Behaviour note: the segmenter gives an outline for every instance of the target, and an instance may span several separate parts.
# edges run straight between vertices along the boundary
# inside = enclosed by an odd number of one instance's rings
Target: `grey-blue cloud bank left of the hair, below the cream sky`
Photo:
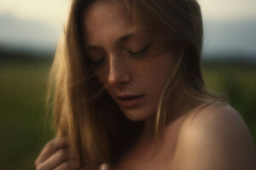
[[[20,20],[13,14],[0,15],[0,45],[11,48],[53,50],[61,31],[38,20]]]

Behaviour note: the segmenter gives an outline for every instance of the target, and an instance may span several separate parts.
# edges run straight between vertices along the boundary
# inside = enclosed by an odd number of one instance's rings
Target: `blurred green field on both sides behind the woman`
[[[45,118],[50,59],[0,60],[0,169],[34,169],[34,160],[54,136]],[[256,66],[203,64],[212,92],[228,94],[256,141]]]

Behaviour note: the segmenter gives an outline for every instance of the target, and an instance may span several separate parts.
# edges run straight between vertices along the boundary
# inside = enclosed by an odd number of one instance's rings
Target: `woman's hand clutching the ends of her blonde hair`
[[[35,161],[37,170],[77,170],[79,161],[74,159],[67,138],[50,140]]]

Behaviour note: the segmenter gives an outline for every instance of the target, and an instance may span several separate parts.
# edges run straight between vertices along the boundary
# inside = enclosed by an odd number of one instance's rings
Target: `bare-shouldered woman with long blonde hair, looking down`
[[[246,124],[204,87],[201,46],[195,0],[73,0],[37,169],[255,169]]]

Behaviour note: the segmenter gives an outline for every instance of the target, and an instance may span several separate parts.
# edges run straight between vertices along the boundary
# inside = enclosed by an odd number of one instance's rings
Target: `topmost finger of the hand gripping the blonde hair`
[[[38,166],[44,162],[49,156],[55,153],[56,150],[65,148],[68,146],[67,138],[61,137],[50,140],[45,146],[44,149],[38,156],[38,159],[35,161],[35,165]]]

